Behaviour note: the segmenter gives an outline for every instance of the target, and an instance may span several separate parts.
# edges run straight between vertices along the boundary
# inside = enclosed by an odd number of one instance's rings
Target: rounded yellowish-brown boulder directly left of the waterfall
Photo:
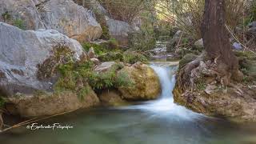
[[[158,75],[150,66],[135,63],[133,66],[125,66],[119,73],[128,74],[134,82],[134,86],[121,86],[118,90],[122,97],[128,100],[150,100],[158,98],[161,86]]]

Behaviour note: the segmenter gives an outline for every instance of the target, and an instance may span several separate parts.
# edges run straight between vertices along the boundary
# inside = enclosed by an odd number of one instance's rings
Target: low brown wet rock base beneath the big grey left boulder
[[[62,94],[10,98],[9,102],[14,106],[13,109],[7,109],[10,114],[19,114],[22,117],[30,118],[97,106],[99,99],[94,91],[90,90],[90,94],[86,94],[82,100],[73,92],[64,92]]]

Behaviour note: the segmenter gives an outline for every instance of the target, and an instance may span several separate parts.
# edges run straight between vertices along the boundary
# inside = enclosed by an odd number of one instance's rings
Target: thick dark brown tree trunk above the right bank
[[[231,49],[225,25],[225,0],[205,0],[201,32],[206,54],[216,63],[218,73],[227,75],[229,78],[238,78],[241,77],[241,72],[238,70],[238,58]]]

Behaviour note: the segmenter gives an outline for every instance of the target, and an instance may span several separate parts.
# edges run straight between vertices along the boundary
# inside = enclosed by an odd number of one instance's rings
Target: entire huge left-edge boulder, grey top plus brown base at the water
[[[0,31],[0,94],[13,107],[11,114],[58,114],[99,102],[93,91],[85,101],[72,92],[54,94],[58,65],[85,56],[79,42],[56,30],[20,30],[2,22]]]

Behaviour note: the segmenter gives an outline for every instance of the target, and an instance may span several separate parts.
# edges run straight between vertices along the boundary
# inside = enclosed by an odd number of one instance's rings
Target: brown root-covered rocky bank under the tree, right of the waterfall
[[[173,91],[174,102],[202,114],[256,122],[253,87],[230,82],[226,75],[214,71],[214,62],[205,60],[201,55],[179,69]],[[238,78],[242,77],[243,74],[238,73]]]

